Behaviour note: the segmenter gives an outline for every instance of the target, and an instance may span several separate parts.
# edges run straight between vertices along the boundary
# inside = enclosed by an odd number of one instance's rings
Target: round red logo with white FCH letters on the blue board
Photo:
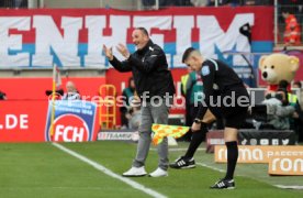
[[[89,129],[85,120],[75,114],[63,114],[54,121],[54,134],[48,140],[54,142],[83,142],[90,141]]]

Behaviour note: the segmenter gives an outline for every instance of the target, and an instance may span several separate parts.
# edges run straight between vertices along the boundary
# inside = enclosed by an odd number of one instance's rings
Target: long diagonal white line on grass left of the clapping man
[[[80,161],[82,161],[82,162],[85,162],[85,163],[93,166],[96,169],[104,173],[105,175],[109,175],[110,177],[119,179],[119,180],[121,180],[121,182],[123,182],[123,183],[132,186],[135,189],[138,189],[138,190],[141,190],[141,191],[143,191],[143,193],[145,193],[145,194],[147,194],[147,195],[149,195],[152,197],[167,198],[167,196],[165,196],[162,194],[159,194],[158,191],[155,191],[155,190],[153,190],[150,188],[147,188],[147,187],[145,187],[145,186],[143,186],[143,185],[141,185],[141,184],[138,184],[138,183],[130,179],[130,178],[122,177],[122,176],[113,173],[112,170],[108,169],[106,167],[102,166],[101,164],[98,164],[97,162],[93,162],[93,161],[87,158],[86,156],[80,155],[79,153],[76,153],[76,152],[74,152],[74,151],[71,151],[71,150],[69,150],[69,148],[67,148],[67,147],[65,147],[65,146],[63,146],[60,144],[57,144],[57,143],[52,143],[52,144],[54,146],[56,146],[57,148],[64,151],[65,153],[68,153],[69,155],[71,155],[71,156],[74,156],[74,157],[76,157],[76,158],[78,158],[78,160],[80,160]]]

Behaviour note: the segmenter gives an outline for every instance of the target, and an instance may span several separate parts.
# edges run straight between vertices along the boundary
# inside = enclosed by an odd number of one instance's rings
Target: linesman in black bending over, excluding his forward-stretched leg
[[[190,47],[183,54],[184,63],[199,72],[204,85],[204,101],[200,106],[192,130],[201,128],[207,109],[225,119],[224,140],[227,146],[227,172],[225,178],[211,188],[234,188],[234,170],[238,158],[237,132],[249,106],[249,96],[237,74],[223,62],[204,59],[199,51]]]

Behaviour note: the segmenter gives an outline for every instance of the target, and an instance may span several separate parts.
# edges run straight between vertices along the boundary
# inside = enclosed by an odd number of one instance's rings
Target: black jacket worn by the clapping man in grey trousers
[[[139,97],[149,91],[149,97],[164,97],[166,92],[175,94],[175,87],[164,51],[152,40],[146,46],[136,51],[126,61],[120,62],[115,56],[111,65],[121,73],[132,72],[136,91]]]

